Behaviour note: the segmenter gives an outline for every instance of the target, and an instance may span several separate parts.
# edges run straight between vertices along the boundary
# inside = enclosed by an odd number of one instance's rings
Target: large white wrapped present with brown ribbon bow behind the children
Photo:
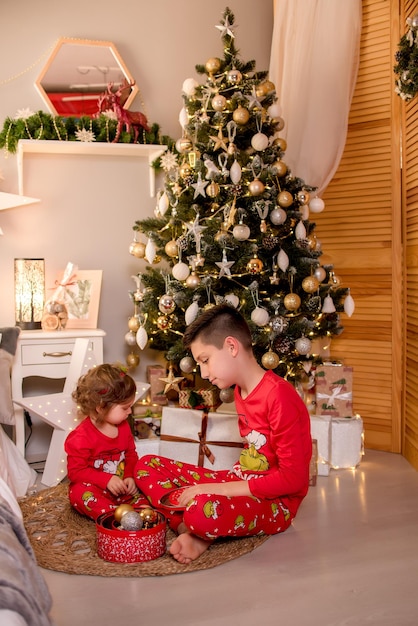
[[[210,469],[230,469],[244,440],[237,415],[164,407],[160,455]]]

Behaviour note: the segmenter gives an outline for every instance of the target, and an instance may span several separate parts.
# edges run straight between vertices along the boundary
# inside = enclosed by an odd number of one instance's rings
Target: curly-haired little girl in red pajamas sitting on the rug
[[[147,503],[133,478],[138,455],[127,417],[135,392],[135,381],[118,365],[103,364],[81,376],[73,393],[85,418],[65,441],[69,498],[94,520],[122,503]]]

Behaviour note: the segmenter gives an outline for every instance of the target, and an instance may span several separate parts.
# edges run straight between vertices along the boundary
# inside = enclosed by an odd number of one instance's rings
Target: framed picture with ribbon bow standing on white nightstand
[[[103,270],[77,270],[65,287],[66,328],[97,328]]]

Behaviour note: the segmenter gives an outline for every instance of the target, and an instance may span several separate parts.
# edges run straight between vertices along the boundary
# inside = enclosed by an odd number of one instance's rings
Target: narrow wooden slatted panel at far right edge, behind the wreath
[[[405,18],[418,14],[404,2]],[[403,216],[405,242],[405,372],[402,453],[418,469],[418,96],[403,106]]]

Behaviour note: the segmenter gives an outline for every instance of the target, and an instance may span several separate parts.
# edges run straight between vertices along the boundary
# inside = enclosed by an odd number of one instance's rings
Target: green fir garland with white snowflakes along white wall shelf
[[[44,111],[20,111],[15,118],[7,117],[0,132],[0,148],[15,153],[19,139],[48,139],[55,141],[94,141],[112,143],[116,136],[117,120],[105,113],[98,117],[61,117]],[[118,143],[133,143],[133,131],[122,130]],[[161,135],[160,126],[152,124],[143,130],[137,143],[160,144],[173,147],[174,140]],[[159,159],[153,167],[159,168]]]

